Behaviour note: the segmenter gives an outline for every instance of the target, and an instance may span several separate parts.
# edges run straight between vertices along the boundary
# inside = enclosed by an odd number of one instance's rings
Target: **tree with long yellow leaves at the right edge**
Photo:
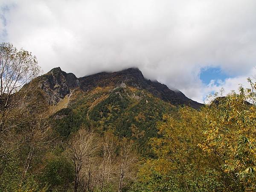
[[[235,183],[233,190],[256,190],[256,83],[239,94],[216,98],[202,110],[204,140],[199,146],[215,154],[219,166]]]

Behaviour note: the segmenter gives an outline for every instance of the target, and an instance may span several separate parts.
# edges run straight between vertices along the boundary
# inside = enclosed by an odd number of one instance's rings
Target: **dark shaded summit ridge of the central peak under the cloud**
[[[125,83],[138,89],[148,90],[154,96],[173,105],[191,105],[193,108],[200,108],[203,105],[187,98],[180,91],[170,90],[165,84],[145,79],[137,68],[129,68],[113,73],[97,73],[81,77],[79,81],[81,82],[81,89],[84,91],[92,90],[97,86],[106,87]]]

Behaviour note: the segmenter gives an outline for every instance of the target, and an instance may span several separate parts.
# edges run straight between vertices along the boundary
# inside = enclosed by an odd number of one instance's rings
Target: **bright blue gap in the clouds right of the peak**
[[[224,81],[229,78],[227,74],[225,74],[220,67],[207,67],[201,70],[200,79],[204,84],[209,84],[213,79],[217,84],[217,80]]]

